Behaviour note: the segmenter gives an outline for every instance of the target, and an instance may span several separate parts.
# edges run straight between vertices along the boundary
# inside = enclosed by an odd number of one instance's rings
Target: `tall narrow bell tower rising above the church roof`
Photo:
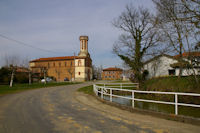
[[[79,40],[80,40],[80,52],[79,52],[78,56],[81,56],[81,57],[89,56],[89,53],[88,53],[88,36],[80,36]]]

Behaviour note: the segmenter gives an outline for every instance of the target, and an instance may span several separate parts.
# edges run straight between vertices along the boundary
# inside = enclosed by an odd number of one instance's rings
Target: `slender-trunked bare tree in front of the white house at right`
[[[178,4],[180,0],[153,0],[157,9],[159,26],[166,37],[166,43],[171,45],[174,51],[179,54],[179,77],[182,75],[183,52],[192,48],[193,27],[182,21],[180,14],[183,5]]]

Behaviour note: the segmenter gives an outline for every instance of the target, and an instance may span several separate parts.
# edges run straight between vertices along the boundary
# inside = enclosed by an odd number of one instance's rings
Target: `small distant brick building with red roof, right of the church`
[[[102,80],[121,80],[123,70],[120,68],[106,68],[102,72]]]

